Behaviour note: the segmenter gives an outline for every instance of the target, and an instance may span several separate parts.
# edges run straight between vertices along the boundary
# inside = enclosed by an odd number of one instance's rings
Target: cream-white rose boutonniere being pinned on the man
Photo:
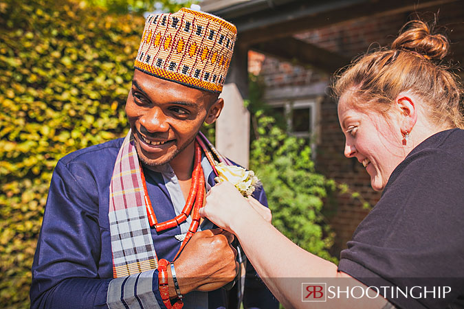
[[[254,190],[256,190],[259,180],[252,170],[245,170],[245,168],[236,165],[225,165],[223,162],[216,162],[215,165],[218,176],[214,181],[217,183],[229,181],[245,197],[252,195]]]

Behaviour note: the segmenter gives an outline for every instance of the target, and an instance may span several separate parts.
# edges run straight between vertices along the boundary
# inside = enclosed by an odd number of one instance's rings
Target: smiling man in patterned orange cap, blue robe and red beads
[[[32,308],[278,307],[233,236],[199,218],[214,160],[230,164],[199,129],[221,113],[235,39],[234,25],[204,12],[148,16],[131,130],[56,165]],[[266,203],[262,189],[254,197]]]

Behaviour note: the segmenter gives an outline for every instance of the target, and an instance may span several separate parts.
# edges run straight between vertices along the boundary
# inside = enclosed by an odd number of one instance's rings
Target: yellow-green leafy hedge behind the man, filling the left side
[[[126,131],[143,26],[82,1],[0,0],[0,308],[29,306],[56,161]]]

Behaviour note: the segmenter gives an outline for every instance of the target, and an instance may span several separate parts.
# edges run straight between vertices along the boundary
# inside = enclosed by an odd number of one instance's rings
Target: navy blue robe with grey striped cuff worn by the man
[[[78,150],[58,161],[32,265],[31,308],[166,308],[157,290],[156,270],[113,279],[109,183],[122,140]],[[214,185],[214,173],[205,158],[202,166],[208,189]],[[185,202],[172,169],[166,165],[157,171],[144,168],[144,172],[159,222],[176,216]],[[263,190],[254,197],[267,205]],[[152,229],[158,258],[173,260],[181,244],[174,236],[185,233],[190,220],[161,233]],[[208,228],[212,224],[205,220],[201,229]],[[234,308],[236,286],[229,291],[189,293],[184,308]],[[245,308],[278,308],[250,263],[243,304]]]

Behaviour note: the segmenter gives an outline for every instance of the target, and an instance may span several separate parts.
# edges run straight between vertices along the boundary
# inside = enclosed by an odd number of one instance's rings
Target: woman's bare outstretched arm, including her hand
[[[200,214],[236,235],[260,277],[285,308],[302,308],[309,304],[302,302],[305,297],[302,283],[311,278],[323,279],[328,286],[343,286],[344,290],[346,287],[351,290],[353,286],[366,290],[361,282],[338,272],[335,264],[301,249],[283,236],[258,213],[258,208],[255,210],[256,207],[259,206],[248,203],[232,184],[223,182],[208,193],[206,206]],[[375,297],[377,293],[369,291],[369,297],[373,298],[333,298],[322,308],[382,308],[386,299]]]

